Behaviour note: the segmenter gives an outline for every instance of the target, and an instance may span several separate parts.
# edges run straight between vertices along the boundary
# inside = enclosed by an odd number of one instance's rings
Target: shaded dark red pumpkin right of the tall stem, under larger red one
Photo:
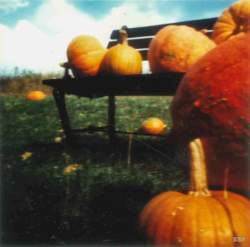
[[[224,170],[229,170],[229,189],[250,195],[249,150],[247,141],[241,145],[237,141],[220,137],[203,138],[210,184],[221,187]]]

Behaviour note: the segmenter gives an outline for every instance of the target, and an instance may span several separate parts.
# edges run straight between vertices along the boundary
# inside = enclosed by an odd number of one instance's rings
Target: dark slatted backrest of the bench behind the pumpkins
[[[175,22],[154,26],[144,26],[144,27],[125,27],[128,33],[129,45],[136,48],[142,55],[143,60],[147,60],[147,51],[149,43],[154,35],[163,27],[167,25],[188,25],[197,30],[207,29],[208,34],[212,32],[213,25],[217,18],[208,18],[201,20],[183,21]],[[123,27],[124,28],[124,27]],[[110,36],[110,42],[108,43],[108,48],[116,45],[119,40],[119,30],[113,30]]]

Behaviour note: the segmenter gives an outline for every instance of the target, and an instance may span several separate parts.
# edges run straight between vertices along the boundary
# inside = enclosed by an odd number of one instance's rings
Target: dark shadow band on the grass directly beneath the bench
[[[25,149],[40,153],[40,157],[60,156],[63,152],[69,153],[76,160],[88,157],[91,162],[127,163],[128,155],[132,156],[132,163],[143,164],[161,163],[162,166],[173,164],[187,168],[187,150],[168,144],[164,138],[155,136],[133,136],[129,154],[129,136],[118,135],[115,142],[110,142],[107,136],[84,134],[64,140],[62,143],[32,143]],[[79,157],[79,158],[78,158]],[[82,160],[84,162],[84,160]]]

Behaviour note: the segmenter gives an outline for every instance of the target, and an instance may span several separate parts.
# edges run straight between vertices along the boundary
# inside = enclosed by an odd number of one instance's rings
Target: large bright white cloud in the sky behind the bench
[[[1,0],[0,0],[1,1]],[[12,1],[25,3],[26,1]],[[145,1],[147,3],[148,1]],[[101,19],[80,11],[67,0],[45,0],[37,9],[32,22],[19,20],[14,28],[0,26],[1,67],[19,67],[39,72],[61,70],[66,61],[67,45],[75,36],[89,34],[106,46],[113,29],[154,25],[178,21],[181,9],[162,16],[154,5],[143,1],[124,1]],[[0,37],[1,38],[1,37]]]

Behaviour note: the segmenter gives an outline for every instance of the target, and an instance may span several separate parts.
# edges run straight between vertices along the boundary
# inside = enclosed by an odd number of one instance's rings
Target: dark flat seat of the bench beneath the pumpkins
[[[82,79],[48,79],[43,83],[68,94],[83,97],[108,95],[174,95],[183,73],[142,74],[127,76],[92,76]]]

